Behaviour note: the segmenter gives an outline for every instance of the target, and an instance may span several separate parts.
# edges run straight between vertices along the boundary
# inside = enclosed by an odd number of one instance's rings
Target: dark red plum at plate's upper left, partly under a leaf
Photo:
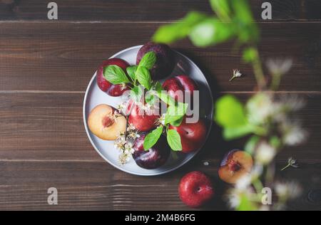
[[[103,76],[103,70],[107,66],[111,66],[111,65],[119,66],[125,71],[125,73],[126,73],[126,68],[129,66],[129,64],[121,58],[110,58],[106,61],[103,61],[103,63],[101,64],[101,66],[99,66],[97,70],[97,76],[96,76],[97,85],[99,88],[101,88],[103,92],[106,92],[108,95],[111,95],[114,97],[121,96],[126,90],[129,90],[129,88],[126,85],[121,85],[121,84],[113,85],[108,80],[106,80],[106,78]]]

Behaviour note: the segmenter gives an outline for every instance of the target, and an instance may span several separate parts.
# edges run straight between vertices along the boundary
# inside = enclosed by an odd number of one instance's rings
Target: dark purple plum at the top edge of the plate
[[[138,65],[141,58],[150,51],[153,51],[157,58],[155,65],[151,68],[152,79],[161,80],[170,75],[175,67],[175,56],[170,47],[165,44],[148,42],[143,45],[138,51],[136,64]]]

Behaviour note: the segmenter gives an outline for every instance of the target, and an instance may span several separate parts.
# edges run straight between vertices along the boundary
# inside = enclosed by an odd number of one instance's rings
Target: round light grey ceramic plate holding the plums
[[[136,63],[136,55],[139,48],[141,48],[141,46],[133,46],[131,48],[127,48],[111,56],[111,58],[123,58],[123,60],[133,65]],[[212,127],[213,117],[213,96],[210,91],[208,81],[206,80],[205,76],[203,75],[202,71],[200,71],[198,66],[196,66],[193,61],[190,61],[189,58],[181,53],[178,53],[177,51],[175,51],[175,58],[176,66],[170,76],[181,74],[189,75],[190,78],[193,78],[193,80],[195,80],[200,88],[200,117],[205,120],[206,125],[208,126],[208,138],[210,129]],[[103,93],[103,91],[98,88],[98,85],[96,84],[96,73],[93,75],[93,78],[91,78],[91,81],[88,84],[85,98],[83,100],[83,123],[85,125],[88,139],[91,141],[91,145],[93,145],[98,154],[101,155],[101,157],[103,157],[103,159],[105,159],[107,162],[112,164],[113,167],[121,169],[123,172],[128,172],[130,174],[136,174],[140,176],[155,176],[178,169],[179,167],[183,166],[183,164],[192,159],[198,151],[200,151],[199,149],[189,154],[172,154],[170,155],[168,162],[166,162],[162,167],[159,167],[158,169],[143,169],[141,167],[138,167],[133,159],[131,159],[131,161],[125,165],[120,165],[118,163],[118,150],[113,147],[113,141],[99,139],[98,137],[93,135],[90,130],[88,130],[87,125],[88,114],[96,105],[108,104],[116,107],[120,100],[121,97],[111,97],[106,93]]]

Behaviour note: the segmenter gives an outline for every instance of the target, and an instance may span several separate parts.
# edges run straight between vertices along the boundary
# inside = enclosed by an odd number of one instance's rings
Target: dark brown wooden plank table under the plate
[[[280,92],[307,100],[300,112],[310,138],[277,156],[300,168],[277,172],[304,187],[288,209],[321,209],[321,1],[272,3],[272,21],[260,19],[263,1],[252,0],[262,30],[263,59],[290,56],[291,73]],[[218,164],[243,140],[223,142],[217,129],[184,167],[158,177],[137,177],[115,169],[93,150],[83,127],[83,95],[97,66],[123,48],[146,43],[156,28],[190,9],[210,11],[208,1],[56,0],[58,21],[47,19],[44,0],[0,0],[0,209],[188,209],[178,199],[178,182],[199,169],[215,180],[217,197],[203,209],[226,209]],[[205,72],[213,93],[245,100],[255,80],[230,44],[200,49],[189,41],[173,48]],[[229,83],[233,68],[246,76]],[[205,166],[203,162],[209,162]],[[47,189],[58,189],[58,205],[47,204]],[[319,193],[318,199],[308,198]],[[317,194],[315,194],[317,195]]]

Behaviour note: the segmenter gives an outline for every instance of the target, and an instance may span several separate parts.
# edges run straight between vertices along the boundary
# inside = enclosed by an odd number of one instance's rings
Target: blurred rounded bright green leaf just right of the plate
[[[245,110],[233,95],[224,95],[215,103],[215,121],[222,127],[242,127],[248,125]]]

